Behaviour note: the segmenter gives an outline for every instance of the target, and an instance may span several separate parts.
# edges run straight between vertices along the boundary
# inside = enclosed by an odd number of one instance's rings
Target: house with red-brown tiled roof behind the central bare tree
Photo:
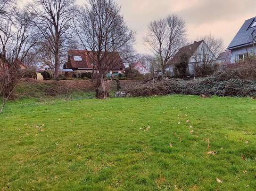
[[[98,65],[94,63],[94,53],[87,50],[70,50],[68,52],[68,61],[64,64],[63,69],[72,69],[84,73],[92,73],[93,70],[97,71]],[[118,75],[124,72],[124,63],[118,53],[108,53],[105,58],[108,66],[106,70],[110,74]]]

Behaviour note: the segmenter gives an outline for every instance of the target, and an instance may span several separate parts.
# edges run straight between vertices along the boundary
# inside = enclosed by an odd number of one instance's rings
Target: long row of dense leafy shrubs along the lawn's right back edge
[[[167,94],[256,97],[256,81],[240,79],[224,72],[190,81],[163,78],[154,83],[137,83],[126,87],[126,92],[133,97]]]

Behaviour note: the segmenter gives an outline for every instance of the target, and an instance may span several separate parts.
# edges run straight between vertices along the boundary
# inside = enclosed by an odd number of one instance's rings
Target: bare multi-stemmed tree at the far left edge
[[[14,92],[18,82],[26,74],[25,58],[36,44],[36,35],[31,15],[25,10],[0,15],[0,96],[4,98],[0,113],[6,101]]]

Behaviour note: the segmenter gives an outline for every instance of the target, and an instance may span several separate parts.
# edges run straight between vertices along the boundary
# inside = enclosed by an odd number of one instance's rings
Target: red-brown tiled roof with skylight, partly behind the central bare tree
[[[75,60],[74,56],[78,56],[79,59]],[[77,69],[77,68],[83,68],[83,69],[92,69],[93,68],[93,55],[92,51],[87,50],[70,50],[68,51],[68,62],[66,62],[66,67],[64,69]],[[124,69],[124,63],[122,59],[119,56],[119,53],[109,53],[107,54],[106,59],[107,63],[106,65],[109,66],[110,69]],[[97,64],[95,63],[95,66]]]

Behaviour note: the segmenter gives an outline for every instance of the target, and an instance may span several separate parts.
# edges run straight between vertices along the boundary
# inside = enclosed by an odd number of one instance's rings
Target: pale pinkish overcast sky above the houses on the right
[[[77,0],[83,3],[86,0]],[[182,17],[193,42],[211,33],[228,46],[245,20],[256,16],[256,0],[116,0],[128,26],[137,31],[135,48],[146,53],[143,37],[150,21],[169,14]]]

